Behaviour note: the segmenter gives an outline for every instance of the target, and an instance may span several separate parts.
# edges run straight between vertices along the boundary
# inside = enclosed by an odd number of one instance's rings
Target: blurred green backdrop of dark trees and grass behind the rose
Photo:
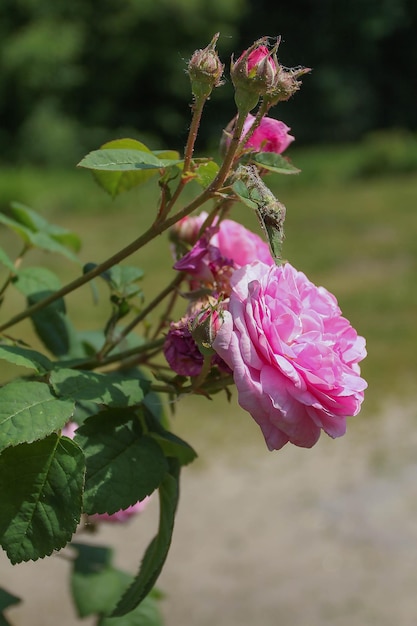
[[[115,201],[76,163],[118,137],[181,150],[190,119],[187,59],[220,31],[228,66],[262,35],[282,36],[284,65],[310,66],[302,89],[272,111],[292,128],[296,177],[270,177],[287,206],[285,256],[332,290],[368,341],[366,407],[413,394],[417,373],[417,48],[413,0],[3,0],[0,5],[0,209],[23,202],[73,228],[81,258],[99,262],[152,220],[154,181]],[[197,150],[214,151],[235,114],[226,69]],[[258,229],[247,209],[234,216]],[[13,235],[2,245],[17,254]],[[152,268],[151,297],[172,275],[166,238],[133,263]],[[31,253],[63,281],[67,261]],[[77,299],[78,298],[78,299]],[[88,288],[68,298],[75,322],[108,315]],[[23,303],[6,299],[6,317]],[[20,330],[22,329],[22,330]],[[16,331],[17,332],[17,331]],[[19,332],[32,337],[25,323]],[[209,407],[207,407],[209,410]]]

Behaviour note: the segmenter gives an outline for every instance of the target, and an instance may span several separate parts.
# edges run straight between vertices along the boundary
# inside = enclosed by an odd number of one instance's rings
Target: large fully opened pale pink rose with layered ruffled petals
[[[289,263],[261,262],[233,274],[213,348],[233,371],[239,404],[267,446],[313,446],[356,415],[366,382],[358,366],[365,340],[341,316],[335,297]]]

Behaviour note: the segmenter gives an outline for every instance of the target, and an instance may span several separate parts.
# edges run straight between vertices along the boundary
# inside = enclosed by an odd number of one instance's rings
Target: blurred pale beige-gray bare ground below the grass
[[[417,624],[416,417],[393,402],[312,450],[269,453],[260,438],[200,450],[158,585],[167,626]],[[117,564],[135,571],[157,508],[93,541],[114,542]],[[12,624],[77,624],[68,572],[59,556],[12,567],[2,554],[0,584],[25,598]]]

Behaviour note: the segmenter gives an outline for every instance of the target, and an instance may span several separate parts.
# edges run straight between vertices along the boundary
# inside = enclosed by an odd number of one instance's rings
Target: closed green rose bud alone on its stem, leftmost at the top
[[[191,90],[196,98],[208,98],[213,87],[221,85],[224,65],[215,49],[219,33],[216,33],[203,50],[196,50],[188,63]]]

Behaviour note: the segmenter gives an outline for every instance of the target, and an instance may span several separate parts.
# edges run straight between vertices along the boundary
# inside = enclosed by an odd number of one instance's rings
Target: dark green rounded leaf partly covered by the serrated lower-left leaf
[[[150,495],[167,461],[158,444],[143,435],[131,411],[102,411],[77,430],[75,441],[87,462],[85,512],[116,513]]]

